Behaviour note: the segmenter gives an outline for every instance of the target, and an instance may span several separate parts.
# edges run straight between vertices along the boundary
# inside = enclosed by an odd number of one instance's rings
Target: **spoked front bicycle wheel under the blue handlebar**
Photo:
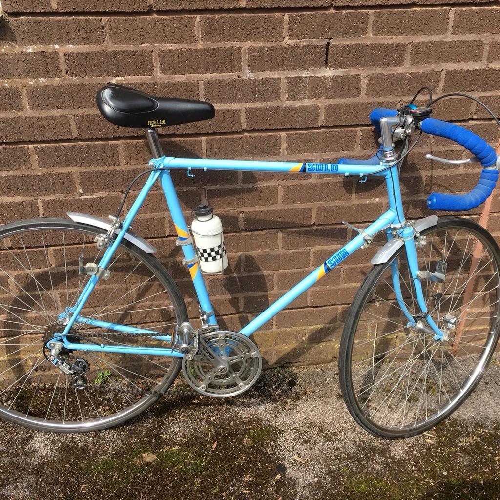
[[[500,251],[491,235],[460,217],[440,217],[421,234],[418,268],[433,273],[436,262],[447,264],[443,283],[421,284],[432,319],[449,339],[434,340],[428,329],[411,326],[405,312],[420,309],[402,246],[364,279],[340,343],[340,386],[351,415],[389,439],[424,432],[458,408],[484,373],[500,332]]]

